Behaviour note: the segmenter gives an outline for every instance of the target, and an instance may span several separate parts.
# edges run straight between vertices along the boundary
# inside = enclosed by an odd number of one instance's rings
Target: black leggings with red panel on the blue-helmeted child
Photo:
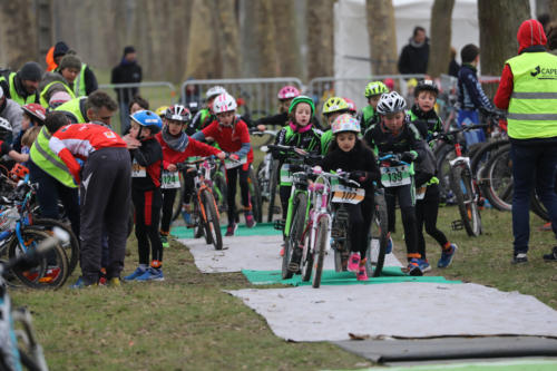
[[[131,192],[136,208],[136,237],[139,264],[149,264],[149,242],[153,260],[163,262],[163,243],[158,234],[163,196],[159,188]]]

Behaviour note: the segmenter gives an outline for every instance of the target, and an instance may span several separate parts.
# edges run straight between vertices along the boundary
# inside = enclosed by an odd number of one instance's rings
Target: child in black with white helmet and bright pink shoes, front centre
[[[359,281],[368,281],[365,271],[365,252],[368,235],[373,216],[373,182],[380,179],[379,167],[373,152],[358,138],[360,121],[350,114],[339,116],[332,124],[334,140],[323,159],[323,170],[342,169],[350,173],[350,178],[360,183],[365,191],[363,201],[359,204],[344,204],[349,212],[352,254],[348,269],[356,273]]]

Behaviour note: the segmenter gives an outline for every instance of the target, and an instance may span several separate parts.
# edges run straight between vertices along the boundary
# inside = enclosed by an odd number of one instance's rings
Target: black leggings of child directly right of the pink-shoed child
[[[387,209],[394,211],[397,198],[399,199],[400,214],[402,215],[402,226],[404,227],[404,242],[407,254],[410,257],[418,253],[418,228],[416,226],[413,185],[385,188],[384,198]],[[389,231],[394,231],[394,221],[389,217]]]

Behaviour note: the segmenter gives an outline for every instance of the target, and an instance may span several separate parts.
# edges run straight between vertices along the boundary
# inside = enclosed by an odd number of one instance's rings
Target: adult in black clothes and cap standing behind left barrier
[[[110,84],[137,84],[141,82],[141,66],[137,64],[136,49],[133,46],[124,48],[120,64],[113,68]],[[138,88],[115,89],[120,106],[120,129],[126,133],[129,126],[129,102],[138,94]]]

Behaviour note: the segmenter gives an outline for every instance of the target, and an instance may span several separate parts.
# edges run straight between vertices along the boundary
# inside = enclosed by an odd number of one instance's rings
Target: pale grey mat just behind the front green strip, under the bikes
[[[216,251],[204,238],[178,240],[194,255],[195,265],[203,273],[241,272],[242,270],[281,270],[278,255],[282,235],[236,236],[223,238],[223,250]],[[393,254],[385,256],[384,266],[402,266]],[[325,270],[334,270],[332,254],[325,260]]]

